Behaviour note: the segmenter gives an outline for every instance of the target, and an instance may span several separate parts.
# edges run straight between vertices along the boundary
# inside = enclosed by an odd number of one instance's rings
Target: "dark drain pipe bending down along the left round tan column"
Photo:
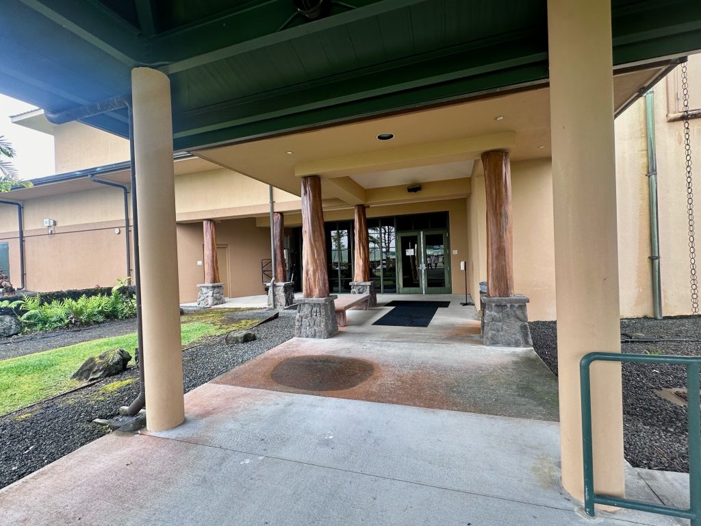
[[[116,109],[126,108],[129,116],[129,158],[131,168],[131,194],[132,194],[132,223],[134,233],[134,281],[136,288],[136,323],[138,337],[138,359],[139,359],[139,396],[131,403],[127,409],[128,416],[137,414],[146,405],[146,386],[144,381],[144,331],[141,306],[141,279],[139,272],[139,220],[137,214],[136,198],[136,169],[134,166],[134,112],[130,95],[119,95],[102,102],[88,104],[77,108],[67,109],[64,112],[49,112],[44,110],[46,119],[53,124],[65,124],[86,117],[99,115],[104,112],[112,112]]]

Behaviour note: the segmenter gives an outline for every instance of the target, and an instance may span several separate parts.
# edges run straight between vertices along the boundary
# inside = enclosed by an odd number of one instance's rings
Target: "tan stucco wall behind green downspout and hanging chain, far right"
[[[690,88],[701,87],[701,56],[692,55],[688,68]],[[680,108],[676,97],[679,88],[679,67],[654,88],[663,316],[691,313],[683,124],[667,121],[667,113]],[[692,109],[699,107],[701,97],[691,102]],[[692,119],[690,130],[692,159],[697,168],[701,119]],[[652,316],[644,99],[616,119],[615,133],[620,312],[622,317]],[[696,224],[700,220],[697,206]]]

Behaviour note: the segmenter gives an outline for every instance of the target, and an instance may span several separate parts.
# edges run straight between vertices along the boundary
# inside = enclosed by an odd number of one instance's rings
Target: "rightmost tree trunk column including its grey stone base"
[[[485,151],[486,296],[480,295],[482,341],[487,346],[530,347],[524,295],[514,295],[511,167],[508,151]]]

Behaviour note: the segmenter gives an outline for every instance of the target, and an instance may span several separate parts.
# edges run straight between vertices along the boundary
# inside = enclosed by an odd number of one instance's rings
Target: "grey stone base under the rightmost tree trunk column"
[[[526,303],[529,299],[482,296],[482,342],[490,347],[532,347]]]

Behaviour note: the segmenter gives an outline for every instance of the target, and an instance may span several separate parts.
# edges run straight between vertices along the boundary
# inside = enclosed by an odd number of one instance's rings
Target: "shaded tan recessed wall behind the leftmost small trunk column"
[[[217,245],[229,247],[229,292],[231,297],[264,294],[261,259],[270,259],[270,230],[257,227],[253,218],[217,222]],[[204,278],[201,223],[177,225],[180,301],[194,302],[197,285]],[[225,269],[219,268],[222,279]]]

